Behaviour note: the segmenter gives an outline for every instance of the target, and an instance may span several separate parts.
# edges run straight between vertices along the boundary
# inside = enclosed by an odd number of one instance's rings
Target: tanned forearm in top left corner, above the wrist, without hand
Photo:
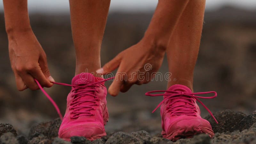
[[[8,36],[14,32],[31,30],[27,0],[3,0],[5,29]]]

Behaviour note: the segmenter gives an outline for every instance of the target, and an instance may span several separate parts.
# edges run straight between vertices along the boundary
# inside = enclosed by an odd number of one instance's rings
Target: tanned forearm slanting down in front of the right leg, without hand
[[[165,50],[175,25],[187,4],[188,0],[159,0],[144,39]]]

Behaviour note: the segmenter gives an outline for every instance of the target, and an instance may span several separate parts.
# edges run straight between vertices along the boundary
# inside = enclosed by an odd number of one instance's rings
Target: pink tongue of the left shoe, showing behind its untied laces
[[[82,74],[76,75],[72,79],[72,85],[85,86],[85,85],[92,84],[92,83],[95,83],[95,76],[93,76],[90,73],[82,73]],[[86,90],[86,89],[93,89],[93,87],[80,88],[80,89],[78,89],[78,91],[81,92],[81,90]],[[88,92],[87,91],[86,93],[94,95],[95,92],[93,92],[93,91]],[[93,97],[91,95],[83,94],[83,96],[80,97],[77,101],[92,100],[94,98],[95,97]],[[93,104],[93,102],[88,101],[88,102],[81,103],[79,105],[85,106],[85,105],[91,105],[91,104]],[[90,109],[90,108],[82,108],[79,111],[83,111],[83,110],[85,111],[85,110],[88,110],[88,109]]]

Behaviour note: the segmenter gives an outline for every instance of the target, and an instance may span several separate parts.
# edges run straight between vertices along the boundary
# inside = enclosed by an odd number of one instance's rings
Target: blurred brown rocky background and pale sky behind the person
[[[102,43],[102,65],[116,54],[136,44],[143,36],[156,7],[156,0],[112,0]],[[31,26],[43,46],[55,81],[71,83],[75,73],[68,0],[28,0]],[[8,57],[3,2],[0,1],[0,123],[10,123],[18,134],[28,134],[36,123],[58,115],[41,91],[16,90]],[[166,58],[161,69],[168,72]],[[159,110],[151,111],[162,100],[145,92],[165,90],[165,81],[134,85],[117,97],[108,95],[107,133],[146,130],[161,132]],[[107,87],[110,82],[107,82]],[[46,91],[59,105],[62,114],[70,87],[54,85]],[[216,91],[218,97],[202,100],[212,111],[256,108],[256,1],[207,0],[204,28],[195,68],[194,92]],[[207,111],[201,108],[202,116]]]

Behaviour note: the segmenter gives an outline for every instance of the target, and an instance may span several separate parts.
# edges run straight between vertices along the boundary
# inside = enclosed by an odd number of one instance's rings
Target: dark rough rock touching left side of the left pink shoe
[[[60,118],[57,118],[54,121],[50,122],[39,123],[30,129],[28,138],[31,140],[32,138],[37,137],[40,134],[43,134],[49,139],[58,137],[60,124]]]

